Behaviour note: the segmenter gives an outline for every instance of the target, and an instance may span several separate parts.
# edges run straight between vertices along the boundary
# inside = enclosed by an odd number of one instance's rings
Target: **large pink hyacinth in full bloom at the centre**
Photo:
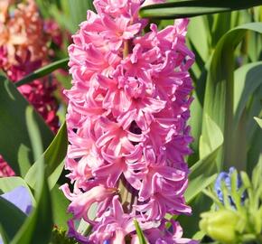
[[[65,167],[73,192],[61,189],[71,202],[70,236],[82,243],[138,243],[134,219],[150,243],[194,243],[181,238],[178,225],[164,230],[167,213],[191,213],[183,196],[192,141],[188,20],[162,31],[151,24],[143,35],[143,2],[95,0],[98,14],[88,11],[69,47]],[[89,237],[77,231],[80,220],[92,225]]]

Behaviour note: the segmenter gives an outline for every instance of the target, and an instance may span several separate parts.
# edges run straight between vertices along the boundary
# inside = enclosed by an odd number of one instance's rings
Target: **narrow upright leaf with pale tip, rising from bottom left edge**
[[[34,145],[35,155],[39,155],[43,150],[42,138],[40,129],[33,119],[32,109],[27,109],[26,111],[26,122],[31,127],[29,136]],[[38,179],[36,187],[37,191],[35,191],[36,207],[23,223],[21,229],[16,233],[11,244],[47,244],[51,239],[51,230],[53,226],[51,194],[45,176],[43,160],[38,166],[38,171],[36,172],[35,177]]]

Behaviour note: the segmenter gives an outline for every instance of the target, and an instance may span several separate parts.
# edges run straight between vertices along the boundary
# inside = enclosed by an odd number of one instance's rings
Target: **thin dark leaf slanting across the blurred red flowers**
[[[63,59],[61,61],[54,61],[54,62],[40,68],[39,70],[33,71],[33,73],[24,77],[22,80],[15,82],[15,86],[20,87],[24,84],[30,83],[33,80],[42,78],[42,77],[50,74],[54,70],[59,70],[59,69],[62,69],[62,68],[66,69],[68,67],[68,62],[69,62],[69,58]]]

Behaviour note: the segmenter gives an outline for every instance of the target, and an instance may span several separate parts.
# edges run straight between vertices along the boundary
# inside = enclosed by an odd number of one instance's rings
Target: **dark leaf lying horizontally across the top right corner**
[[[140,9],[143,18],[178,19],[203,14],[216,14],[262,5],[262,0],[179,0]]]

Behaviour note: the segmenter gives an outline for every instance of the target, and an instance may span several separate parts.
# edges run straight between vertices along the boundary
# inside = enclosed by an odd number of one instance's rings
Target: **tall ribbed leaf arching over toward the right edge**
[[[218,166],[232,162],[233,104],[234,104],[234,50],[249,31],[262,33],[262,23],[247,23],[223,35],[212,55],[204,100],[204,113],[220,127],[224,134],[224,151],[220,151]],[[203,121],[203,129],[206,127]],[[203,133],[206,140],[206,133]]]

